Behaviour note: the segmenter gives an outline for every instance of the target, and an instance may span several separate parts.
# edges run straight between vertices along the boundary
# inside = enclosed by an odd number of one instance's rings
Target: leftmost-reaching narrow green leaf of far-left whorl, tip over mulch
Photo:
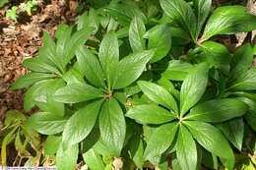
[[[14,85],[12,85],[12,89],[19,89],[24,87],[29,87],[30,85],[37,83],[39,81],[52,79],[56,77],[53,74],[45,74],[45,73],[31,73],[21,77],[16,81]]]

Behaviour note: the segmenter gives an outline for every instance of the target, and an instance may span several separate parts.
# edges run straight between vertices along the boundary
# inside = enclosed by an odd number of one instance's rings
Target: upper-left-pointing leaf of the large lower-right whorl
[[[146,81],[140,81],[138,85],[151,100],[178,113],[175,99],[164,87]]]

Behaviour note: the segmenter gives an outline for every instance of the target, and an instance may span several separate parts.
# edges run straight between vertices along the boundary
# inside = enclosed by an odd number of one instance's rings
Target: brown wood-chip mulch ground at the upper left
[[[23,90],[10,90],[9,87],[28,71],[22,66],[27,57],[36,55],[42,45],[43,31],[54,34],[59,24],[74,23],[77,1],[52,0],[38,3],[36,11],[29,16],[19,12],[18,22],[5,18],[12,7],[23,1],[12,1],[0,10],[0,118],[10,109],[23,110]]]

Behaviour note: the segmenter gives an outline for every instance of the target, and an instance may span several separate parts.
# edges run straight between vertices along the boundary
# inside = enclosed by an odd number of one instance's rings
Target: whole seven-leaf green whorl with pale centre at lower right
[[[176,98],[179,104],[164,87],[149,82],[138,83],[155,103],[137,105],[126,116],[144,125],[160,125],[152,130],[144,152],[145,160],[158,165],[161,153],[174,145],[171,151],[176,150],[181,169],[196,169],[200,163],[197,160],[200,146],[195,139],[206,150],[221,157],[228,169],[232,169],[232,150],[221,131],[209,123],[240,117],[246,113],[247,106],[236,98],[211,99],[195,105],[204,94],[207,83],[208,67],[202,63],[193,68],[183,81],[179,98]],[[178,165],[173,166],[177,168]]]

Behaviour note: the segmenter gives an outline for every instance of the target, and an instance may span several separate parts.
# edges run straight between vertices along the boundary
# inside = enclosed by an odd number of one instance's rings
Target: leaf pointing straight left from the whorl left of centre
[[[104,93],[92,85],[75,83],[58,89],[53,96],[59,102],[77,103],[103,97]]]

